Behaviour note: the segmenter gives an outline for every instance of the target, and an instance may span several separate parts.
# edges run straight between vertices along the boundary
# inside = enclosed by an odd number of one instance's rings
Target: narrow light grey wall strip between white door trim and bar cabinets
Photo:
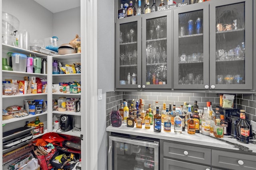
[[[107,9],[107,10],[106,10]],[[98,170],[107,169],[106,92],[114,90],[114,0],[98,1]]]

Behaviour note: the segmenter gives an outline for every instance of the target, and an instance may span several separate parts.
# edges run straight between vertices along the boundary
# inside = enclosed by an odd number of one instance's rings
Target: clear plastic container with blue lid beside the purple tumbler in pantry
[[[12,70],[26,72],[27,56],[20,53],[12,53]]]

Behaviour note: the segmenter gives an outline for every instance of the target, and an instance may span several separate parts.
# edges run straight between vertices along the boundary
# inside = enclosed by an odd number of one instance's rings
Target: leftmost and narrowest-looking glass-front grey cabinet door
[[[116,88],[141,88],[141,17],[116,21]]]

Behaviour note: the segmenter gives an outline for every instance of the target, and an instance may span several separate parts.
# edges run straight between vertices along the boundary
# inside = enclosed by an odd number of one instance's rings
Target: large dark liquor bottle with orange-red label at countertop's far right
[[[240,120],[236,123],[236,140],[249,143],[250,125],[246,121],[245,111],[240,110]]]

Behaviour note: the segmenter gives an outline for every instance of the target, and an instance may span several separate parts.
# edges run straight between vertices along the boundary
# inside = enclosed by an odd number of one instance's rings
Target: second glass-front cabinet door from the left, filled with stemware
[[[142,89],[171,89],[171,11],[142,16]]]

